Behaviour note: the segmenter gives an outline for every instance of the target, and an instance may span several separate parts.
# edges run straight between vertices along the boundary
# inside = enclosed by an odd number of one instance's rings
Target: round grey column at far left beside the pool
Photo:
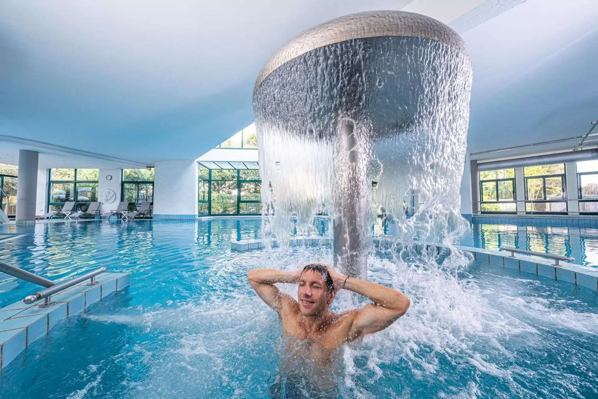
[[[17,180],[17,224],[35,223],[39,153],[19,150]]]

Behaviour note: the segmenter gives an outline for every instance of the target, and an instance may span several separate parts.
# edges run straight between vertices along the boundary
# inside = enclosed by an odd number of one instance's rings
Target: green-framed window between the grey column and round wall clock
[[[50,169],[48,208],[60,210],[65,202],[74,201],[77,211],[86,211],[97,201],[98,169]]]

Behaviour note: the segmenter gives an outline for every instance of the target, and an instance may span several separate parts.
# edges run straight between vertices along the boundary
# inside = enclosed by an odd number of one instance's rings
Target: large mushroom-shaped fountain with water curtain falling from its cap
[[[350,14],[286,42],[253,95],[269,232],[288,237],[292,217],[300,232],[324,212],[335,267],[358,278],[381,206],[403,242],[454,240],[471,80],[460,36],[420,14]]]

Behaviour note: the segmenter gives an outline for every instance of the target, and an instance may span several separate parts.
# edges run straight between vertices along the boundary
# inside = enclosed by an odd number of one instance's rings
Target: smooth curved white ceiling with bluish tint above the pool
[[[582,135],[598,118],[596,0],[5,0],[0,136],[93,153],[67,150],[72,162],[196,159],[252,122],[255,77],[285,41],[401,8],[469,45],[471,152]]]

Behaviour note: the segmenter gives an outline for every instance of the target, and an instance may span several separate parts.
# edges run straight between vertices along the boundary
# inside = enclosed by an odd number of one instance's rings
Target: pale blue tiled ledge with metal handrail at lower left
[[[97,285],[87,282],[75,285],[51,297],[56,302],[45,309],[38,309],[39,302],[23,301],[0,309],[0,370],[6,367],[29,343],[44,336],[66,316],[77,315],[92,303],[130,285],[129,273],[102,273],[96,277]]]

